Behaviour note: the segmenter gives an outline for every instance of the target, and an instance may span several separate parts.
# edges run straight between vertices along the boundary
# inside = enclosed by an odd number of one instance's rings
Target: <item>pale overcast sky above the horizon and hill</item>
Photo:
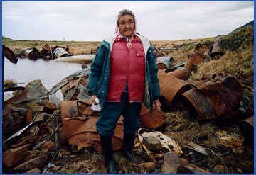
[[[254,20],[254,1],[3,1],[2,35],[14,40],[101,41],[117,14],[134,12],[149,40],[227,35]]]

